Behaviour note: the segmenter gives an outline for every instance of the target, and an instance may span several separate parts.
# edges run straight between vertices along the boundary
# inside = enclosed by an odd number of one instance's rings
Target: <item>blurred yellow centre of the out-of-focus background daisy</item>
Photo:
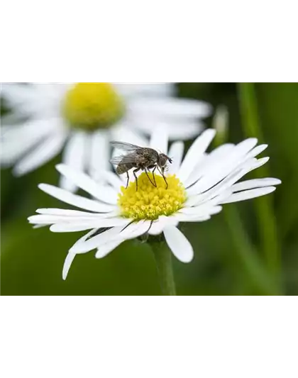
[[[112,84],[81,82],[67,92],[62,113],[72,126],[96,130],[121,119],[125,106]]]

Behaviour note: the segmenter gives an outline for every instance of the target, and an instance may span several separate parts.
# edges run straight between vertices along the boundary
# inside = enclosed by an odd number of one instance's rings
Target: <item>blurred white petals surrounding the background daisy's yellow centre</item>
[[[19,175],[26,174],[48,162],[65,145],[62,162],[87,171],[97,180],[98,171],[112,169],[109,164],[111,152],[109,140],[120,140],[145,147],[148,145],[148,139],[145,138],[143,131],[145,130],[148,135],[152,128],[162,129],[165,126],[169,129],[170,140],[192,138],[202,128],[199,119],[209,116],[211,111],[211,106],[202,101],[175,98],[175,79],[112,79],[109,82],[115,86],[126,103],[126,116],[109,130],[89,133],[89,143],[83,143],[84,133],[79,134],[75,131],[75,135],[72,136],[72,129],[61,112],[67,91],[80,81],[82,80],[31,79],[26,85],[1,84],[4,97],[10,106],[15,108],[14,121],[16,118],[20,121],[22,116],[31,116],[35,120],[23,123],[23,126],[29,127],[31,123],[33,126],[39,126],[35,131],[32,126],[31,133],[27,133],[29,129],[25,128],[13,127],[11,131],[6,128],[7,141],[13,148],[9,150],[5,146],[2,147],[1,140],[1,166],[14,165],[23,154],[30,152],[24,161],[18,162],[19,165],[13,171]],[[6,121],[9,121],[9,118],[6,118]],[[49,131],[46,131],[47,128],[43,129],[42,126],[45,124],[50,126]],[[164,130],[160,130],[160,133],[163,132]],[[42,136],[47,135],[46,133],[52,135],[50,141],[42,142],[45,145],[35,147]],[[62,143],[62,133],[63,135],[67,133],[65,143]],[[53,136],[54,134],[56,136]],[[24,138],[21,138],[21,135],[24,135]],[[21,140],[20,148],[16,147],[18,140]],[[57,145],[54,146],[55,140]],[[161,150],[164,149],[164,145]],[[53,146],[53,152],[50,152],[50,146]],[[34,151],[35,148],[38,148],[37,152]],[[36,156],[40,155],[41,149],[43,155],[38,161]],[[65,177],[60,179],[60,187],[72,192],[77,189],[75,184],[68,182]]]

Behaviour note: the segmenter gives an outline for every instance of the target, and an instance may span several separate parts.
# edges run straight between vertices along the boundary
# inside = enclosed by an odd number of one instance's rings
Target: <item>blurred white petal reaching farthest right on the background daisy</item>
[[[171,118],[204,118],[210,116],[212,111],[211,106],[205,102],[174,97],[135,99],[128,105],[130,110],[136,114],[146,114],[149,111],[151,116],[170,116]]]

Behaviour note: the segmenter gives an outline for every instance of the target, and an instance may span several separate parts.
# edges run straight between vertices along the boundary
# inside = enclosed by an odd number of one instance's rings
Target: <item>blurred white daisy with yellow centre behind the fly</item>
[[[193,138],[211,106],[176,98],[175,84],[170,79],[1,83],[1,96],[13,110],[1,120],[1,166],[13,166],[13,174],[21,176],[63,150],[64,164],[95,177],[97,169],[110,167],[111,139],[145,145],[153,126],[169,128],[171,140]],[[65,177],[60,187],[76,189]]]

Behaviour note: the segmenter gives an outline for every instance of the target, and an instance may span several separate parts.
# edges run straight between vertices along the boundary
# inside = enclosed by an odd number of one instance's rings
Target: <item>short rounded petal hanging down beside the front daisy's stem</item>
[[[173,255],[181,262],[191,262],[194,258],[194,250],[183,233],[174,226],[167,226],[163,233]]]

